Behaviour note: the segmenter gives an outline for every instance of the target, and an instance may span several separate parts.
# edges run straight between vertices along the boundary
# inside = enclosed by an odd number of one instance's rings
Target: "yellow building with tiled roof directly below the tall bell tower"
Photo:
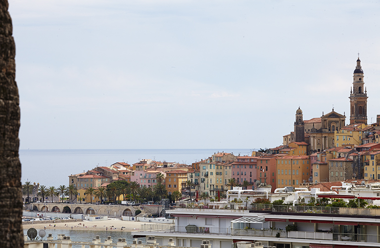
[[[364,123],[357,123],[346,125],[340,128],[339,131],[335,130],[335,146],[360,146],[364,137],[362,130],[366,127],[367,125]]]

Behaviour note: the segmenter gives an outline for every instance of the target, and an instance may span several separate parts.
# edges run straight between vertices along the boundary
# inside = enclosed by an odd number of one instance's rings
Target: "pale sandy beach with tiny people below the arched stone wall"
[[[36,229],[75,229],[75,230],[96,230],[96,231],[123,231],[132,232],[140,230],[141,224],[146,222],[140,221],[123,221],[117,219],[101,220],[101,221],[88,221],[81,220],[77,222],[61,222],[61,223],[22,223],[24,229],[34,227]],[[55,226],[54,226],[55,225]]]

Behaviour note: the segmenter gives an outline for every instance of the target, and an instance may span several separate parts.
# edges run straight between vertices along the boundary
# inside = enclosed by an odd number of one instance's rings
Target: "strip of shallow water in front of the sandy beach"
[[[36,229],[38,232],[40,229]],[[24,235],[28,229],[24,229]],[[101,242],[103,243],[107,236],[111,236],[112,242],[116,243],[119,238],[125,238],[128,244],[132,244],[134,238],[130,232],[106,232],[106,231],[84,231],[84,230],[58,230],[58,229],[47,229],[46,236],[51,233],[54,240],[57,239],[58,234],[64,234],[65,236],[70,236],[73,242],[89,242],[93,241],[96,235],[100,236]],[[44,240],[47,238],[44,237]],[[145,238],[138,238],[145,243]],[[73,246],[73,248],[81,248],[81,246]]]

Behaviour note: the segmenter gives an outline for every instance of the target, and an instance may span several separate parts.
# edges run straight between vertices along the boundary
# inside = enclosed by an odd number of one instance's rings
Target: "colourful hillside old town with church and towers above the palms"
[[[74,186],[78,193],[70,202],[100,202],[95,194],[92,199],[86,197],[89,189],[91,192],[106,188],[115,181],[133,183],[140,188],[162,184],[169,196],[176,192],[176,198],[181,199],[196,195],[226,196],[233,186],[245,189],[268,186],[273,193],[284,187],[323,189],[336,186],[335,182],[377,182],[380,180],[380,115],[376,123],[368,124],[367,98],[358,58],[349,94],[349,120],[345,112],[341,114],[334,109],[328,113],[322,110],[322,116],[303,120],[298,107],[294,130],[281,138],[282,144],[253,151],[251,156],[218,151],[191,165],[142,159],[132,165],[116,162],[97,166],[68,176],[69,186]],[[118,200],[125,200],[123,194]]]

